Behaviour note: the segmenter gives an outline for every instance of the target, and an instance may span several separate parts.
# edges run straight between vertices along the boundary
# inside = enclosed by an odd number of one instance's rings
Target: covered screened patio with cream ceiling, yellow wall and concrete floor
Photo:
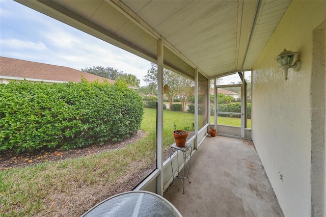
[[[222,216],[326,216],[326,1],[16,1],[157,64],[157,168],[136,190],[172,203],[191,197],[174,204],[185,216],[219,215],[217,207]],[[292,60],[300,69],[278,66],[284,48],[297,52]],[[185,195],[177,180],[170,186],[177,174],[163,157],[164,68],[195,83],[195,135],[188,141],[194,182],[185,182]],[[245,71],[252,71],[252,129]],[[219,125],[216,109],[210,123],[211,81],[217,90],[216,80],[234,73],[241,127]],[[208,138],[209,128],[237,139]]]

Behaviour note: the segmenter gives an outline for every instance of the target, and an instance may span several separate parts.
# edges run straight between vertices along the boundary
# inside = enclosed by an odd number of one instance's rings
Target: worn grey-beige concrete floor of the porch
[[[192,156],[189,183],[164,193],[183,216],[284,216],[251,141],[207,137]]]

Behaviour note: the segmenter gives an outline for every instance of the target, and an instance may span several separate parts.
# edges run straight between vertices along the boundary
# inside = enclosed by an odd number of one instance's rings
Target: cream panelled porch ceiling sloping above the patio
[[[21,4],[194,77],[251,69],[288,1],[21,1]]]

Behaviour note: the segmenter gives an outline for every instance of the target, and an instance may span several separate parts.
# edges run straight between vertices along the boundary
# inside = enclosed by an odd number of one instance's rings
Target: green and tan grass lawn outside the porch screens
[[[129,191],[133,175],[156,158],[156,110],[144,111],[146,137],[124,149],[0,171],[0,216],[80,216],[113,194]],[[178,129],[192,127],[194,117],[164,111],[165,148],[174,142],[174,123]]]

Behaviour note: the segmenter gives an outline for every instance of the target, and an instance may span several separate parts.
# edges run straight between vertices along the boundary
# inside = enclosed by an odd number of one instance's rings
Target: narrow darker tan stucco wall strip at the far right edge
[[[325,129],[326,122],[326,19],[313,31],[312,70],[310,82],[311,110],[311,210],[313,216],[326,216]]]

